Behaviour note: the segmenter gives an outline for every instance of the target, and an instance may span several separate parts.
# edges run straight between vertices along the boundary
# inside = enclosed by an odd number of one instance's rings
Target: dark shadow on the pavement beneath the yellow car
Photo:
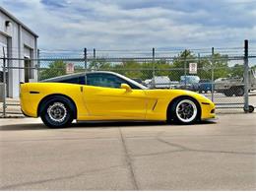
[[[66,128],[58,128],[58,129],[72,129],[72,128],[114,128],[114,127],[150,127],[150,126],[198,126],[198,125],[206,125],[206,124],[215,124],[215,121],[207,120],[197,122],[192,125],[181,125],[181,124],[167,124],[165,122],[159,121],[121,121],[121,122],[109,122],[109,121],[80,121],[77,123],[72,123],[71,126]],[[23,123],[23,124],[10,124],[10,125],[1,125],[0,131],[19,131],[19,130],[51,130],[51,128],[46,127],[43,123]]]

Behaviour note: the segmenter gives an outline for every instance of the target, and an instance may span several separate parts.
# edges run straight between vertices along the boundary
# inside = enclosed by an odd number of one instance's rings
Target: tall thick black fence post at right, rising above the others
[[[248,40],[244,40],[244,111],[249,112]]]

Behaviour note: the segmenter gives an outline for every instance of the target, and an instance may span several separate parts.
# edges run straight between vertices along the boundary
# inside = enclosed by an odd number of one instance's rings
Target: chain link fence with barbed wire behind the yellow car
[[[256,57],[248,55],[246,43],[245,49],[240,49],[238,54],[214,48],[210,53],[195,53],[188,49],[176,53],[156,51],[153,48],[152,51],[140,52],[139,55],[124,53],[120,56],[118,50],[112,50],[113,55],[106,54],[105,50],[98,50],[96,55],[96,49],[91,52],[85,49],[84,55],[76,57],[61,55],[53,58],[41,55],[39,59],[29,60],[1,58],[1,112],[6,115],[8,107],[19,103],[10,103],[11,99],[8,98],[15,92],[14,86],[19,93],[19,82],[37,82],[88,71],[116,72],[149,89],[197,92],[212,99],[217,105],[217,112],[248,112],[252,110],[250,105],[256,104]],[[15,77],[16,75],[19,77]],[[12,78],[18,79],[16,84]]]

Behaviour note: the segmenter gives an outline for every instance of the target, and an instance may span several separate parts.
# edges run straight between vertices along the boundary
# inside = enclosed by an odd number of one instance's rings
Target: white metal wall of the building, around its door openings
[[[9,27],[5,26],[5,22],[10,21]],[[8,39],[8,57],[24,59],[25,47],[29,47],[32,50],[32,58],[36,58],[36,36],[31,32],[28,32],[21,24],[17,23],[12,18],[6,16],[0,10],[0,35],[1,37],[7,37]],[[2,50],[0,50],[2,51]],[[32,62],[32,66],[36,63]],[[24,67],[24,61],[13,60],[9,61],[8,66],[10,67]],[[32,70],[32,78],[36,78],[36,70]],[[9,69],[8,72],[8,96],[19,97],[20,93],[20,82],[25,80],[24,69]]]

